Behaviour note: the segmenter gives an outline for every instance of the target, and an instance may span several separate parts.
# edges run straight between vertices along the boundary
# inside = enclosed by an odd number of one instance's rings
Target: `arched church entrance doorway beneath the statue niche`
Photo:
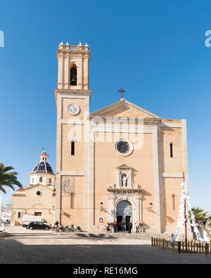
[[[129,201],[120,201],[117,204],[117,223],[121,223],[122,220],[126,225],[126,230],[129,230],[129,221],[132,220],[132,205]],[[118,230],[121,230],[120,225],[118,225]]]

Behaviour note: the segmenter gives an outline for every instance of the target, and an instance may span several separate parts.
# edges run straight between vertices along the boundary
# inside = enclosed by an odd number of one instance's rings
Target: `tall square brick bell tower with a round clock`
[[[86,44],[58,46],[56,88],[56,220],[65,225],[86,223],[89,180],[89,61]],[[75,133],[77,136],[75,138]],[[86,229],[86,227],[84,227]]]

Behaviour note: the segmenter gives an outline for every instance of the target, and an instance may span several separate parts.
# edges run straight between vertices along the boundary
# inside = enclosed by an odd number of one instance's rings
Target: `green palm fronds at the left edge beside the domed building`
[[[4,186],[11,187],[13,190],[15,190],[13,185],[17,185],[20,188],[23,187],[17,180],[18,173],[9,172],[13,169],[14,168],[12,166],[6,167],[4,164],[0,163],[0,191],[4,192],[4,194],[6,193]]]

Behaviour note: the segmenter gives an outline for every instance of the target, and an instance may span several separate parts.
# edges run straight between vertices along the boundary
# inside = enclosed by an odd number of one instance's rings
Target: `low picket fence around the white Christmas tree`
[[[175,253],[196,253],[202,255],[211,255],[210,243],[196,243],[188,241],[187,243],[181,241],[169,241],[165,239],[155,239],[152,237],[152,246],[159,247]]]

